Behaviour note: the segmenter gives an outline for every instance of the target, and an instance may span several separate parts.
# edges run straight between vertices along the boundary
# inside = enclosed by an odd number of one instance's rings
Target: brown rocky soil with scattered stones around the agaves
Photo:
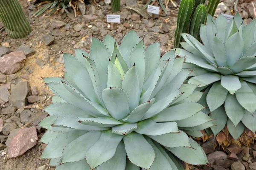
[[[19,0],[32,26],[31,34],[12,40],[0,23],[0,170],[54,170],[49,160],[39,159],[46,147],[40,142],[45,130],[36,126],[48,116],[43,108],[51,104],[52,93],[41,77],[64,75],[64,53],[75,53],[75,48],[88,51],[92,35],[102,40],[110,34],[118,43],[134,28],[145,45],[160,40],[161,54],[173,48],[177,10],[169,4],[168,14],[142,11],[142,1],[121,0],[122,9],[113,13],[111,6],[96,0],[97,5],[78,3],[81,12],[59,10],[48,16],[32,17],[37,11],[35,0]],[[219,3],[215,16],[234,12],[235,0]],[[178,6],[179,1],[177,0]],[[154,4],[157,5],[157,4]],[[239,1],[239,13],[245,23],[256,17],[256,0]],[[106,14],[120,14],[121,23],[107,23]],[[253,141],[253,140],[252,140]],[[215,139],[201,143],[210,166],[192,167],[193,170],[256,170],[256,145],[231,145],[221,151]],[[254,163],[255,162],[255,163]]]

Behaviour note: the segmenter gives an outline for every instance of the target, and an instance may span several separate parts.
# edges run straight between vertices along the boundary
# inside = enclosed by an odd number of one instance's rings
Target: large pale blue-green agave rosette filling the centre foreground
[[[90,55],[63,57],[65,78],[44,78],[55,96],[39,124],[48,129],[41,158],[56,170],[180,170],[175,156],[208,162],[185,132],[202,136],[212,119],[195,103],[197,85],[183,84],[191,71],[175,51],[160,57],[159,42],[145,50],[131,30],[120,47],[109,35],[93,37]]]

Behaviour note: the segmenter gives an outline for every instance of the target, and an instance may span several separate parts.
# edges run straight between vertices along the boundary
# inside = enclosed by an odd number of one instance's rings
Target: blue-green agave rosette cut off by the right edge
[[[256,20],[244,26],[237,13],[230,22],[220,15],[216,20],[208,15],[207,24],[201,26],[200,37],[204,45],[189,34],[182,34],[186,42],[177,49],[186,56],[183,68],[193,70],[188,83],[205,89],[199,101],[204,110],[217,119],[211,127],[216,135],[227,123],[235,138],[244,131],[244,125],[256,131]],[[189,51],[189,52],[188,52]]]

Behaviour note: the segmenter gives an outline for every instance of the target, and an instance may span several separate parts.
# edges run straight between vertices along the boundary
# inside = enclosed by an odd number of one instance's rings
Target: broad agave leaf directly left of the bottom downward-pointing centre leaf
[[[90,168],[93,169],[111,159],[122,138],[121,135],[111,133],[111,130],[102,132],[99,140],[86,153]]]

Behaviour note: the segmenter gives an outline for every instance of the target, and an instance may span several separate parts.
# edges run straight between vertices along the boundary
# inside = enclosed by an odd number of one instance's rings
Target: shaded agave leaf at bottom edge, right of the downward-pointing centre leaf
[[[169,156],[163,150],[163,148],[162,150],[159,150],[158,147],[161,147],[159,144],[157,147],[149,137],[145,136],[145,139],[151,145],[151,147],[153,147],[154,153],[155,153],[155,159],[150,169],[151,170],[172,170],[172,166],[170,164],[170,161],[172,161],[172,159],[169,158]]]

